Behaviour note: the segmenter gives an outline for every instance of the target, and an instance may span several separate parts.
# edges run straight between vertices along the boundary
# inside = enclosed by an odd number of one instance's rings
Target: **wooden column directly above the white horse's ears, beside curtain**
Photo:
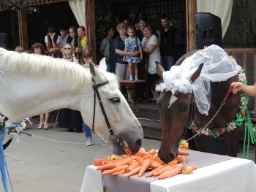
[[[94,64],[97,64],[96,31],[95,31],[95,1],[85,0],[86,37],[89,40],[89,50],[92,52]]]

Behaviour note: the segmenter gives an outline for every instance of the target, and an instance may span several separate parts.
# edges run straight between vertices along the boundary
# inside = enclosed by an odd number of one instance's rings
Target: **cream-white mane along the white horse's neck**
[[[89,69],[84,69],[80,64],[66,61],[61,58],[52,58],[46,55],[29,53],[16,53],[0,48],[0,70],[2,72],[20,72],[23,74],[33,73],[44,77],[67,77],[74,85],[73,88],[81,88],[89,85],[91,74]],[[110,85],[118,86],[117,79],[110,73],[104,73]],[[111,80],[110,80],[111,79]]]

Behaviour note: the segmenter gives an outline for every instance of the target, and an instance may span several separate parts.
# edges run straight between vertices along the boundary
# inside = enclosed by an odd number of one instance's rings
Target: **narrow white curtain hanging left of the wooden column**
[[[75,19],[78,21],[78,25],[86,26],[84,0],[69,0],[69,6],[75,15]]]

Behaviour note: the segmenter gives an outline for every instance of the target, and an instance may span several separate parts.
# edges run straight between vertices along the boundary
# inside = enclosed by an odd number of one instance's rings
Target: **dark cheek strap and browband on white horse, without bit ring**
[[[102,99],[101,99],[101,97],[99,95],[99,91],[98,91],[99,87],[101,87],[102,85],[108,84],[108,80],[104,81],[104,82],[99,82],[98,84],[96,84],[95,80],[92,78],[92,82],[94,82],[94,84],[92,85],[92,88],[94,88],[94,93],[97,94],[97,98],[99,100],[99,106],[100,106],[100,109],[102,110],[102,114],[103,114],[103,116],[105,118],[105,121],[106,121],[106,124],[108,126],[108,131],[110,132],[111,135],[113,135],[114,132],[113,132],[111,126],[110,126],[107,114],[105,112],[105,109],[104,109],[104,106],[103,106],[103,103],[102,103]],[[95,99],[94,99],[94,101],[95,101]],[[95,110],[95,103],[94,103],[94,110]]]

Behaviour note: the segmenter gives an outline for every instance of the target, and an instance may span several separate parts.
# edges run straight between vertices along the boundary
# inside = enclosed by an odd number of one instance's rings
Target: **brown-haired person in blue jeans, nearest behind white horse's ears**
[[[82,53],[82,58],[83,58],[83,67],[88,69],[89,68],[89,61],[92,60],[92,53],[91,50],[83,50]],[[83,130],[84,134],[86,135],[86,145],[91,146],[92,138],[91,138],[91,130],[89,126],[86,125],[86,123],[83,121]]]

